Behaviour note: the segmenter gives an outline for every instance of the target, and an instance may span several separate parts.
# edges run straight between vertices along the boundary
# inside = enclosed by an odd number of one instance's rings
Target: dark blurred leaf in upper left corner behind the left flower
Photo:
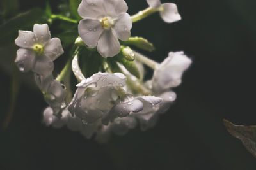
[[[19,30],[31,29],[36,22],[40,22],[44,17],[44,11],[40,8],[25,13],[20,13],[8,22],[0,26],[0,46],[14,42]]]

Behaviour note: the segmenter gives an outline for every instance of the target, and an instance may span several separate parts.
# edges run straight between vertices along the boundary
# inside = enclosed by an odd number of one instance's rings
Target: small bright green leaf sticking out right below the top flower
[[[150,43],[147,39],[138,36],[130,37],[128,41],[123,41],[122,44],[136,46],[137,48],[146,50],[148,52],[155,50],[155,47],[152,43]]]

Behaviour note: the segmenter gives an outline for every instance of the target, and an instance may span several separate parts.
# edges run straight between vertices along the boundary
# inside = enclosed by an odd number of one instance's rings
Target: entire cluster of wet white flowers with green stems
[[[180,85],[191,59],[184,52],[170,52],[159,64],[132,50],[130,45],[154,50],[147,39],[131,37],[132,23],[156,12],[164,22],[181,19],[173,3],[147,3],[150,7],[130,16],[124,0],[82,0],[77,10],[83,18],[79,36],[56,79],[52,71],[53,61],[63,53],[60,39],[51,39],[47,24],[35,24],[34,32],[19,31],[15,62],[20,71],[35,74],[36,85],[49,104],[43,113],[46,125],[66,125],[86,138],[95,136],[105,142],[111,134],[124,135],[137,125],[142,131],[153,127],[170,108],[176,99],[172,88]],[[154,70],[147,81],[144,66]],[[76,89],[71,86],[72,78],[67,78],[71,72],[79,82]],[[68,97],[73,91],[74,96]]]

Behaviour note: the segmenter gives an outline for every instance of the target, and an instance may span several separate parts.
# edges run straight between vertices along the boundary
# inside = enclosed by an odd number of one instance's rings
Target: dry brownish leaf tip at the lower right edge
[[[235,125],[228,120],[223,120],[228,132],[240,139],[246,149],[256,158],[256,126]]]

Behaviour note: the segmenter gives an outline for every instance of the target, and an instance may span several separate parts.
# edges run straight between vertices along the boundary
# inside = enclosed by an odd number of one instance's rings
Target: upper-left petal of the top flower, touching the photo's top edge
[[[103,1],[106,0],[83,0],[77,11],[84,19],[98,19],[106,15]]]

